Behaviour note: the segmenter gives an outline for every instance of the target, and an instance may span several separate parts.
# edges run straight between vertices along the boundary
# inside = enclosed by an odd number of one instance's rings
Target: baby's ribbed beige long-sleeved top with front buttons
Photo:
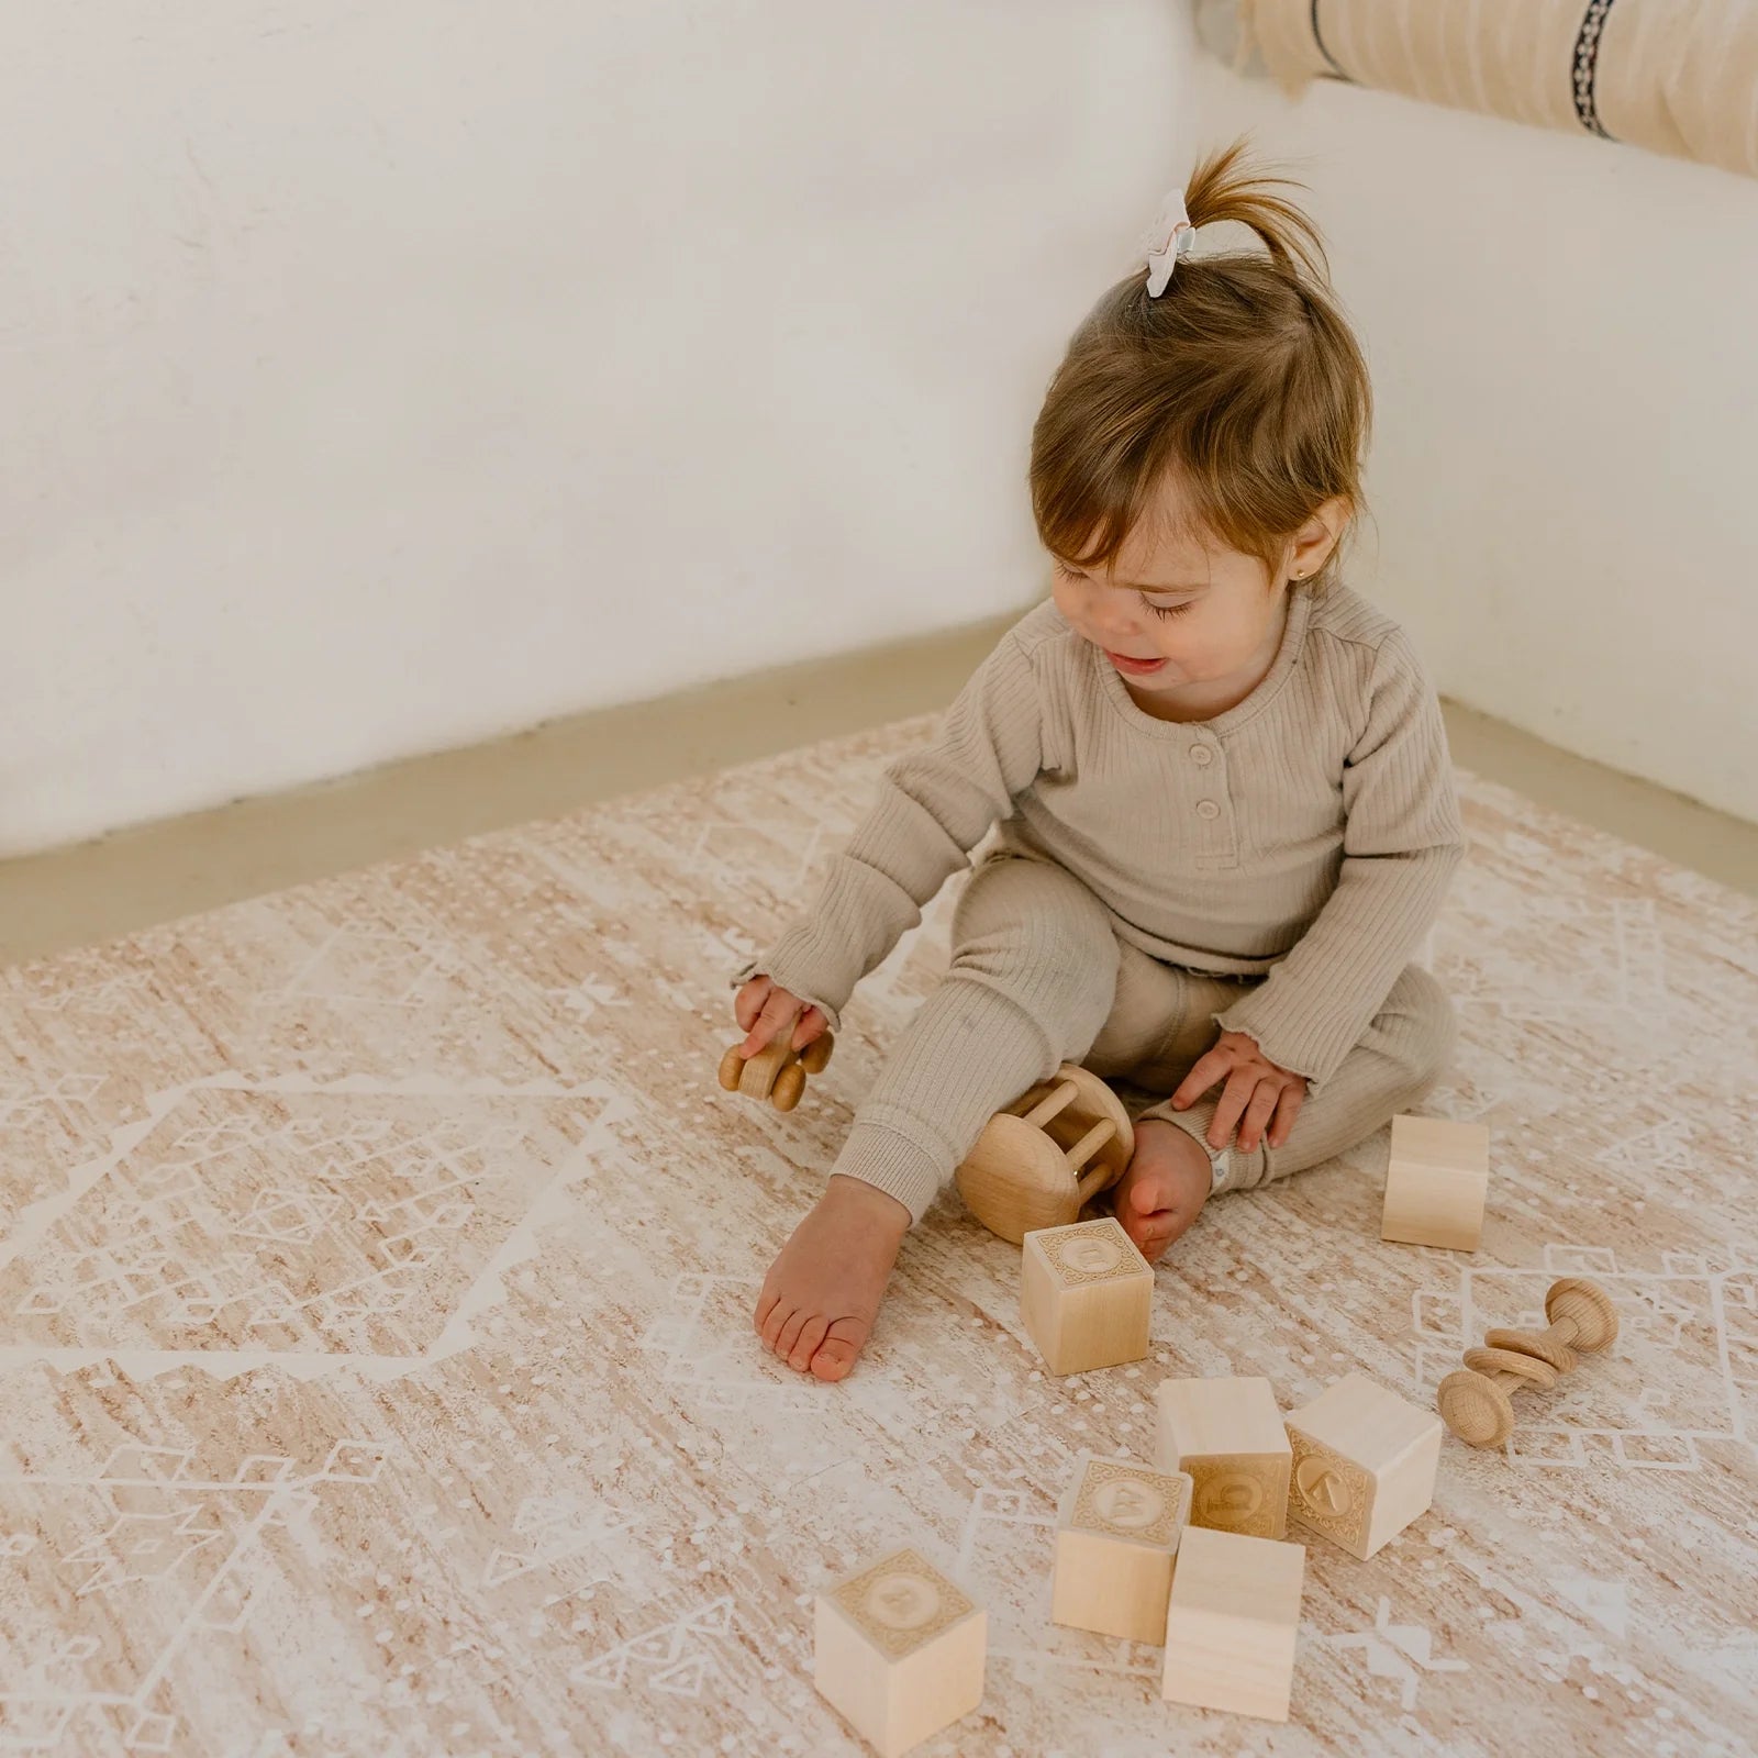
[[[893,763],[765,972],[825,1011],[921,919],[984,833],[1048,856],[1151,956],[1266,976],[1218,1016],[1324,1081],[1366,1032],[1464,853],[1440,703],[1408,636],[1347,587],[1296,587],[1257,689],[1211,721],[1139,708],[1053,603],[999,642],[935,738]]]

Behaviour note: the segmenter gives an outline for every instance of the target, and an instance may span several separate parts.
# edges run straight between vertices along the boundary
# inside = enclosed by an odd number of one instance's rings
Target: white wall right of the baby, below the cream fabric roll
[[[1313,190],[1378,397],[1355,584],[1442,689],[1758,817],[1758,183],[1199,63]]]

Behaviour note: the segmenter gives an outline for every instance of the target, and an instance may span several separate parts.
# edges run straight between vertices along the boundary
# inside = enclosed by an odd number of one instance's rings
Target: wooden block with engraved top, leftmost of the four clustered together
[[[1083,1452],[1057,1508],[1050,1616],[1104,1637],[1162,1642],[1173,1556],[1188,1515],[1183,1471]]]

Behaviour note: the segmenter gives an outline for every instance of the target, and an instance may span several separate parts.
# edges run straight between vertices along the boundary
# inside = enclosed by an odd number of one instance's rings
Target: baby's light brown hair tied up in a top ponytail
[[[1206,533],[1275,568],[1333,498],[1362,505],[1373,392],[1331,299],[1318,229],[1246,160],[1211,153],[1185,190],[1192,225],[1238,220],[1269,255],[1178,260],[1159,299],[1118,281],[1076,331],[1032,429],[1032,512],[1044,547],[1115,561],[1176,478]],[[1327,580],[1336,552],[1317,580]]]

